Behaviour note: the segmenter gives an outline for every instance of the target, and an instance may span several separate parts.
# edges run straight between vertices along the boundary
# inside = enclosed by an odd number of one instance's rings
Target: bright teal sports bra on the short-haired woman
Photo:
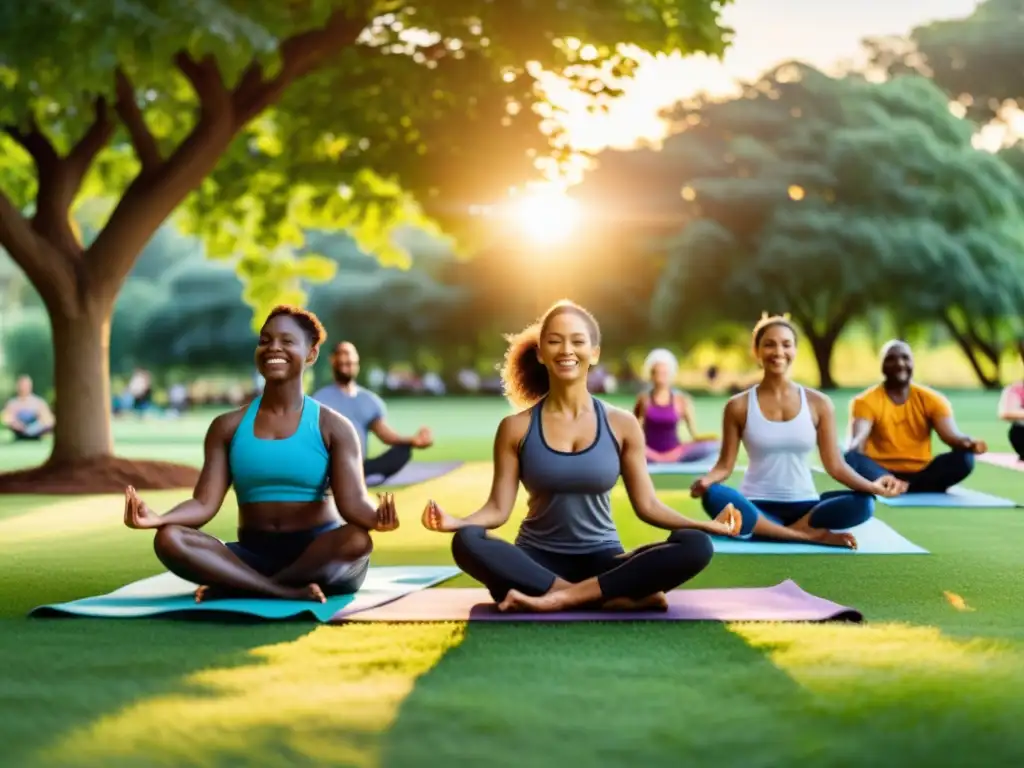
[[[322,501],[331,484],[331,456],[321,434],[319,403],[303,397],[295,433],[266,440],[254,432],[262,399],[249,403],[227,455],[239,504]]]

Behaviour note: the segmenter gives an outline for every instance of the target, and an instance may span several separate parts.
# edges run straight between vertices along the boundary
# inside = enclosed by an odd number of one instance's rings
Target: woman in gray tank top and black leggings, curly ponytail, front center
[[[433,501],[424,510],[427,528],[455,534],[456,563],[502,610],[665,609],[664,593],[711,562],[709,534],[738,531],[738,513],[691,520],[657,500],[636,417],[587,389],[600,343],[597,322],[571,302],[511,338],[502,378],[509,400],[525,410],[498,427],[490,498],[465,518]],[[672,531],[667,541],[624,551],[610,500],[620,476],[637,516]],[[510,544],[486,531],[509,519],[520,481],[529,511]]]

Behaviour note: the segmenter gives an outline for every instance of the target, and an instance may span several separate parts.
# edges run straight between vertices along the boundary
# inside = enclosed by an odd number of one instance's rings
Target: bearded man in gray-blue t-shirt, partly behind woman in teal
[[[332,411],[337,411],[355,427],[362,446],[362,471],[368,484],[379,485],[404,467],[413,457],[414,447],[433,444],[430,430],[421,427],[412,437],[403,437],[388,426],[384,400],[369,389],[355,383],[359,375],[359,353],[355,345],[340,341],[331,354],[334,384],[313,393],[313,399]],[[388,450],[371,459],[367,455],[367,441],[373,432]]]

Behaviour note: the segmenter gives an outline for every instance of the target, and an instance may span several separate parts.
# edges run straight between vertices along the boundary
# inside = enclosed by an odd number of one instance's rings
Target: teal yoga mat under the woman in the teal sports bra
[[[399,565],[371,567],[362,588],[354,595],[329,597],[326,603],[303,600],[227,599],[197,603],[196,585],[173,573],[160,573],[134,582],[98,597],[86,597],[67,603],[41,605],[32,616],[92,616],[95,618],[139,618],[182,613],[236,614],[253,618],[315,618],[330,621],[340,611],[352,613],[382,605],[446,582],[459,574],[455,566]]]

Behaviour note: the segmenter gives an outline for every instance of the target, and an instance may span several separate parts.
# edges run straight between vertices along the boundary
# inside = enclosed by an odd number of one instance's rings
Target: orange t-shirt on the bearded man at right
[[[919,472],[932,461],[932,428],[953,413],[949,400],[929,387],[910,385],[906,402],[897,406],[879,384],[850,403],[854,419],[872,422],[864,456],[890,472]]]

